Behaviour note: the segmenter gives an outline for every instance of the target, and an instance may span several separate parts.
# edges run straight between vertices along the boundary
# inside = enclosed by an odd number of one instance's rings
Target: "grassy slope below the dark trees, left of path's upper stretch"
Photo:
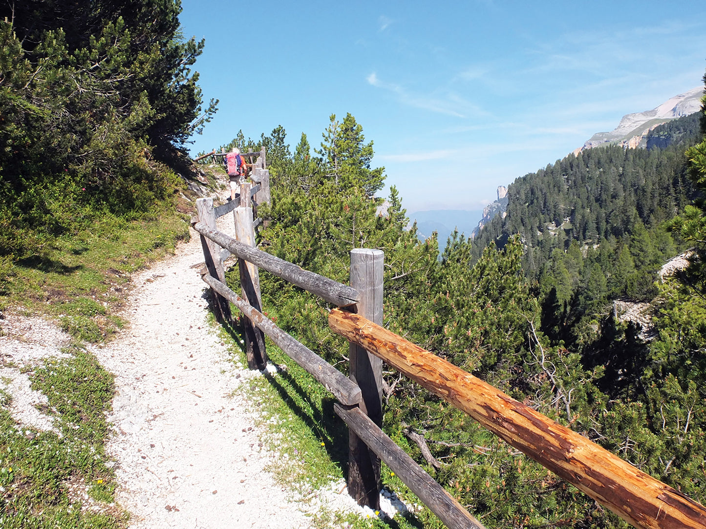
[[[174,253],[189,238],[186,215],[126,221],[104,217],[90,229],[54,239],[20,260],[0,261],[0,310],[22,305],[56,317],[82,341],[104,341],[123,326],[119,308],[129,274]]]

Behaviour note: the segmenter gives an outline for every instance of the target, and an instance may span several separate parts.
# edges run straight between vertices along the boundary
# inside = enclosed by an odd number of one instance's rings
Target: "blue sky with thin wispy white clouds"
[[[182,0],[219,111],[191,152],[330,114],[373,140],[408,212],[481,209],[621,116],[702,85],[706,2]],[[385,195],[384,190],[381,195]]]

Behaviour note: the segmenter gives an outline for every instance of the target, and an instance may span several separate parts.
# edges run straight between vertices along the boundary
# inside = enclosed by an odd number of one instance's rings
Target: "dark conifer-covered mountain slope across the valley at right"
[[[697,141],[698,116],[653,130],[651,148],[593,148],[517,178],[505,216],[474,238],[474,256],[520,233],[527,276],[544,293],[555,286],[560,303],[577,295],[589,274],[599,288],[591,303],[650,298],[655,272],[678,248],[664,222],[694,196],[684,150]],[[585,274],[566,262],[571,256],[589,263]]]

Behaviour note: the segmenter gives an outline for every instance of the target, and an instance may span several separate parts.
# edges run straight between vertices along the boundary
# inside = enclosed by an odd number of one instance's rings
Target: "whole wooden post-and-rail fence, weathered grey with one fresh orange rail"
[[[381,378],[385,361],[635,527],[706,528],[706,509],[698,502],[381,327],[383,253],[380,250],[352,250],[351,285],[347,286],[255,248],[253,209],[247,204],[251,195],[261,192],[265,179],[269,193],[264,152],[259,163],[261,187],[251,188],[249,183],[241,186],[237,205],[229,203],[214,208],[213,199],[198,200],[198,219],[192,219],[192,224],[201,234],[206,262],[203,280],[213,288],[219,320],[230,320],[229,302],[245,315],[244,321],[249,325],[245,329],[249,367],[265,367],[264,335],[267,335],[335,396],[338,401],[335,413],[349,427],[348,490],[359,504],[379,509],[380,461],[384,461],[449,528],[483,527],[381,430]],[[235,238],[215,227],[215,219],[231,211],[236,221]],[[225,284],[222,260],[227,254],[224,252],[239,260],[241,296]],[[337,307],[330,311],[328,322],[333,332],[349,341],[349,377],[263,315],[258,267]]]

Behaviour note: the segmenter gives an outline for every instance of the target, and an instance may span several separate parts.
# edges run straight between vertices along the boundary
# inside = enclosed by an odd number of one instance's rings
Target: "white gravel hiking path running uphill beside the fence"
[[[116,501],[131,528],[308,528],[264,470],[274,454],[259,446],[248,404],[230,396],[256,375],[227,361],[207,322],[200,262],[192,231],[174,257],[133,278],[128,329],[93,351],[116,375]]]

